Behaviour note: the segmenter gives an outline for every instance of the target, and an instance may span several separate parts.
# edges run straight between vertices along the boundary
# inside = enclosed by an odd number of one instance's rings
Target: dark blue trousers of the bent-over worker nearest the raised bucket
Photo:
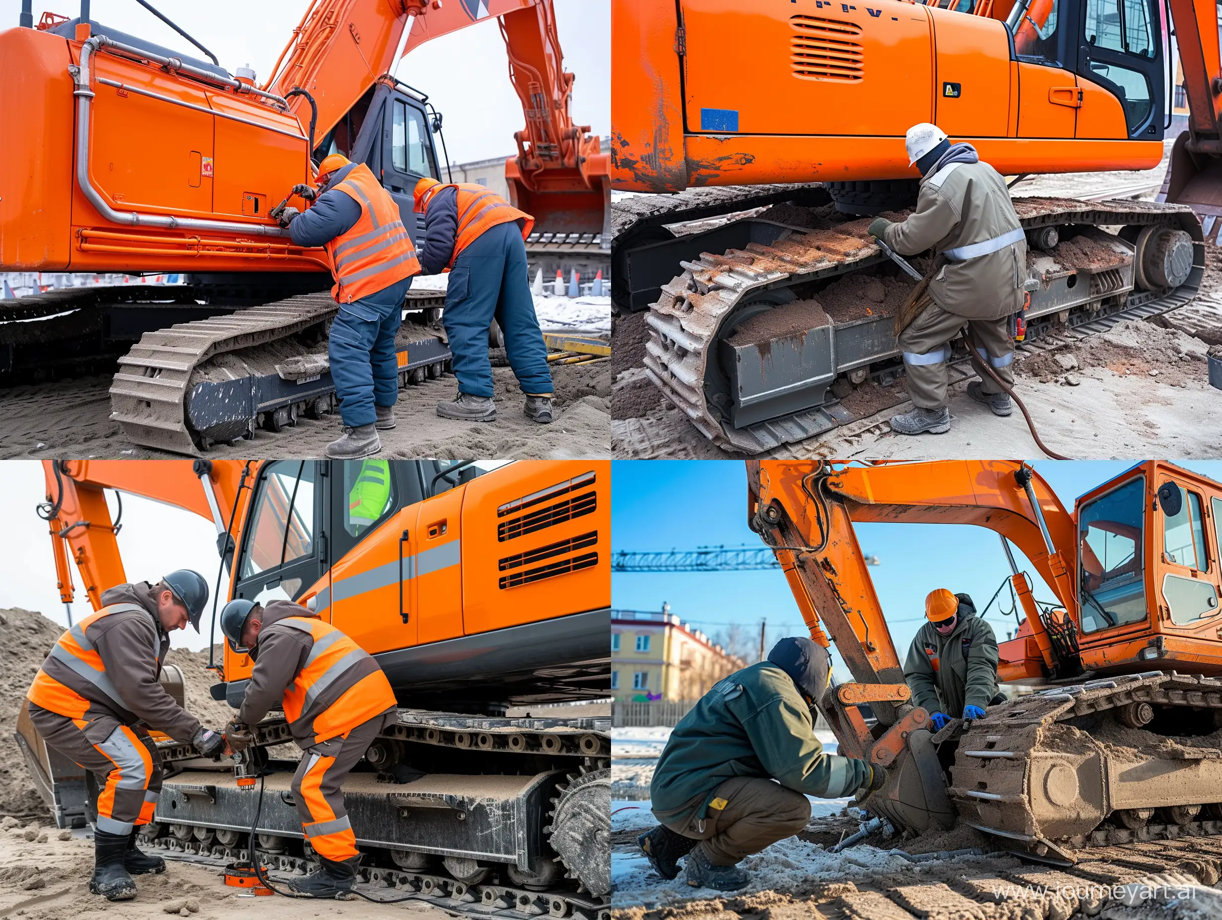
[[[534,313],[527,248],[516,222],[485,230],[462,250],[450,271],[441,321],[450,337],[459,392],[492,396],[488,330],[494,318],[505,334],[505,351],[522,392],[551,396],[547,347]]]

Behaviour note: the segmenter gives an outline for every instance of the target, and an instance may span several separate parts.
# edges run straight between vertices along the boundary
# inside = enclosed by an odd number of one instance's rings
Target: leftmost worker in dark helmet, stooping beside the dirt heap
[[[141,852],[136,834],[153,820],[161,792],[161,755],[149,728],[189,740],[205,758],[225,740],[175,703],[158,682],[170,633],[199,632],[208,583],[191,569],[158,584],[121,584],[101,607],[51,648],[26,694],[29,720],[48,747],[92,772],[100,789],[89,891],[109,900],[136,897],[133,875],[164,872],[165,860]]]

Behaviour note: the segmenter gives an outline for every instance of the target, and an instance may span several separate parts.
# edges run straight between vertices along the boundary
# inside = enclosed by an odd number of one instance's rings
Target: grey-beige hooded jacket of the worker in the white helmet
[[[901,255],[926,249],[940,253],[986,243],[1020,231],[1006,181],[980,162],[970,144],[952,144],[921,177],[916,210],[892,224],[882,241]],[[964,319],[1000,319],[1023,309],[1026,283],[1026,239],[982,255],[951,260],[929,283],[943,310]]]

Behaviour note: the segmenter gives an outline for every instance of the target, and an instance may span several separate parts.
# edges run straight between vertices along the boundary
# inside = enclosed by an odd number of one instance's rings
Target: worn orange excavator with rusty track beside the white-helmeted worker
[[[1151,169],[1172,26],[1191,115],[1163,203],[1015,199],[1019,341],[1156,314],[1222,341],[1222,314],[1184,309],[1222,215],[1213,0],[617,0],[612,183],[655,194],[616,205],[613,297],[649,310],[645,374],[727,450],[853,420],[857,387],[903,371],[913,281],[863,217],[915,205],[906,131],[932,122],[1007,176]]]

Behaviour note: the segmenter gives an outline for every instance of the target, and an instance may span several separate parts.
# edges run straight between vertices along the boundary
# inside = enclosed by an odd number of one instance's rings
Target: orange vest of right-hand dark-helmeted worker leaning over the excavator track
[[[273,626],[299,629],[314,639],[306,663],[285,688],[284,705],[290,726],[302,718],[312,722],[315,744],[343,734],[395,706],[395,692],[380,667],[359,678],[349,673],[371,656],[330,623],[313,617],[286,617]],[[318,698],[337,681],[340,687],[348,684],[347,689],[330,706],[319,710]]]

